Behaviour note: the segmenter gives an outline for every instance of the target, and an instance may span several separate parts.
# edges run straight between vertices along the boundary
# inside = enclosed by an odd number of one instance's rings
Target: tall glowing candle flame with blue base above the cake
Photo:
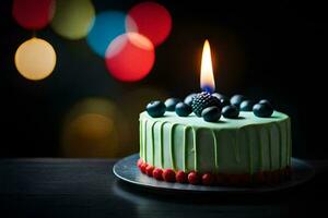
[[[202,49],[201,69],[200,69],[200,87],[202,90],[209,93],[213,93],[215,89],[211,48],[208,39],[204,41],[203,49]]]

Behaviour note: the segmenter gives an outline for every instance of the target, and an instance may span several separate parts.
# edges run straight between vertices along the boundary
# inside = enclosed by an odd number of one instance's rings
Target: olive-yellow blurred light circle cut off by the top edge
[[[91,0],[57,0],[52,29],[68,39],[81,39],[90,32],[95,16]]]

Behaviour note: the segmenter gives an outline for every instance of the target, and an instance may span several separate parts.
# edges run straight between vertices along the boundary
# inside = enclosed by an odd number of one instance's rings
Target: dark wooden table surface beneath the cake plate
[[[0,217],[314,217],[328,207],[328,161],[311,162],[316,177],[286,192],[173,195],[119,181],[110,159],[0,159]]]

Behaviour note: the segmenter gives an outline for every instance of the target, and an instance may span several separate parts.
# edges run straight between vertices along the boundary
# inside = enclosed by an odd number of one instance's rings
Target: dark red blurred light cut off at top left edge
[[[24,28],[40,29],[54,16],[55,0],[14,0],[12,15]]]

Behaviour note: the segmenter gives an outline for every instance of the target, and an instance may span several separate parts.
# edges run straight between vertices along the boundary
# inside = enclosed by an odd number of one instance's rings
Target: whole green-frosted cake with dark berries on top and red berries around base
[[[290,178],[291,119],[268,100],[203,92],[152,101],[139,121],[137,165],[156,180],[254,185]]]

